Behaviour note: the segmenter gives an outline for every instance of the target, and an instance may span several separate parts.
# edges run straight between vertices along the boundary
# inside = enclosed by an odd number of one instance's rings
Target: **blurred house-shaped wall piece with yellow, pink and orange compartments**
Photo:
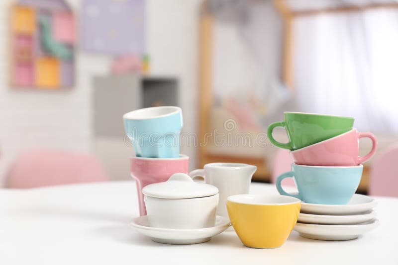
[[[75,40],[75,17],[64,0],[16,1],[11,8],[12,86],[73,86]]]

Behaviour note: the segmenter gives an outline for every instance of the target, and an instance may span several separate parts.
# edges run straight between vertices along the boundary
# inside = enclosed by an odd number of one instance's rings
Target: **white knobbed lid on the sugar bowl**
[[[218,189],[212,185],[194,182],[187,174],[176,173],[168,181],[145,186],[142,193],[161,199],[190,199],[213,196],[218,193]]]

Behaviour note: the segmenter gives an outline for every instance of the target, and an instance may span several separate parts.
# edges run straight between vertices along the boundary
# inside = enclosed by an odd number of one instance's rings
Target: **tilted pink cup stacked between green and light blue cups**
[[[372,149],[359,156],[360,138],[372,140]],[[327,140],[291,151],[294,162],[306,166],[357,166],[368,161],[376,152],[377,138],[373,133],[358,133],[352,129]]]

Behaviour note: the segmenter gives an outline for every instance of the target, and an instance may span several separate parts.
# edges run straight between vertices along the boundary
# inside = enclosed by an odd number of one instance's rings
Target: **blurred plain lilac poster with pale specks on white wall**
[[[83,0],[82,46],[113,56],[144,54],[144,0]]]

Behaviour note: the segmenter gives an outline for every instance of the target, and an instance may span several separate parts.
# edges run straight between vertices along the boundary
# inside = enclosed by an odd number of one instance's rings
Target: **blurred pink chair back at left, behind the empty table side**
[[[91,155],[35,149],[22,153],[11,164],[5,187],[29,189],[107,180],[104,168]]]

